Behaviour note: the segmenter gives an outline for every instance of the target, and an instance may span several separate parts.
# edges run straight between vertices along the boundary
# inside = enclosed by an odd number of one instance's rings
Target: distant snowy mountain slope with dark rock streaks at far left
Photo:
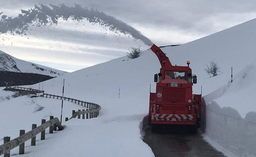
[[[14,71],[22,73],[38,73],[53,77],[66,74],[65,71],[60,71],[47,66],[19,60],[11,55],[0,50],[0,71]]]

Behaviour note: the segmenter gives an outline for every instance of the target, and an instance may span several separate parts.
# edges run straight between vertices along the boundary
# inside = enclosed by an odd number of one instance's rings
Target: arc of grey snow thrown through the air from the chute
[[[59,6],[50,4],[50,6],[52,9],[43,4],[41,4],[40,7],[35,5],[34,9],[28,11],[21,10],[22,14],[19,14],[18,17],[1,19],[0,33],[7,33],[10,31],[11,33],[24,34],[25,31],[27,31],[28,24],[36,20],[39,21],[37,25],[40,27],[47,23],[57,24],[57,20],[60,17],[64,20],[72,18],[77,21],[85,18],[90,23],[98,23],[111,31],[120,31],[123,34],[130,34],[133,38],[142,40],[146,45],[151,46],[153,44],[149,38],[146,38],[135,28],[121,20],[117,20],[113,16],[106,15],[102,11],[82,8],[78,4],[75,4],[75,7],[66,7],[64,4],[59,4]],[[0,13],[0,15],[1,14],[2,13]]]

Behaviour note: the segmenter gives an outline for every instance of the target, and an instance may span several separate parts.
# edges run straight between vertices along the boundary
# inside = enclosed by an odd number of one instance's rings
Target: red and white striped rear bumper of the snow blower
[[[153,114],[151,119],[155,121],[170,121],[170,122],[192,122],[193,115],[183,114]]]

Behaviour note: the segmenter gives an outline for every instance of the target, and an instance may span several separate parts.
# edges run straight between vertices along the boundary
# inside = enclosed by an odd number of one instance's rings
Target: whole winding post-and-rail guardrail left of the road
[[[37,89],[32,89],[32,88],[24,88],[24,87],[8,87],[5,88],[5,90],[7,91],[11,91],[11,90],[18,90],[18,91],[32,91],[34,93],[43,93],[42,95],[40,95],[41,97],[44,97],[44,95],[46,95],[46,97],[49,96],[49,98],[53,99],[56,97],[57,99],[60,98],[62,100],[62,96],[59,95],[52,95],[52,94],[47,94],[44,93],[44,91],[40,91]],[[101,106],[92,102],[85,102],[82,100],[77,100],[77,99],[73,99],[70,97],[63,97],[64,100],[68,100],[71,102],[74,102],[75,104],[78,103],[78,105],[82,105],[84,107],[87,107],[87,109],[83,109],[78,110],[77,112],[75,112],[75,110],[72,111],[72,116],[70,118],[66,117],[65,121],[68,121],[72,118],[78,117],[78,119],[81,118],[82,115],[82,119],[85,119],[85,115],[86,115],[86,119],[89,118],[94,118],[94,117],[98,117],[99,115],[99,111],[101,110]],[[36,145],[36,135],[41,133],[41,140],[45,139],[45,130],[46,128],[50,127],[50,132],[49,133],[53,133],[53,130],[57,130],[57,127],[59,128],[59,130],[63,130],[63,126],[60,123],[59,119],[57,117],[53,118],[53,116],[50,116],[50,120],[46,122],[45,119],[42,119],[42,125],[36,127],[36,124],[32,124],[32,130],[25,133],[25,130],[20,130],[20,136],[12,139],[10,141],[10,137],[5,137],[4,138],[4,144],[2,144],[0,146],[0,155],[5,154],[5,157],[10,157],[10,150],[12,150],[13,148],[20,146],[20,150],[19,150],[19,154],[24,154],[25,153],[25,142],[29,139],[31,139],[31,146],[35,146]],[[23,134],[23,135],[21,135]]]

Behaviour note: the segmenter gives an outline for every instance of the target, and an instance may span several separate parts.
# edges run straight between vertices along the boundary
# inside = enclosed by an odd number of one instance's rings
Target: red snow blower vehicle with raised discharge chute
[[[196,125],[201,117],[201,95],[192,94],[192,70],[189,66],[172,66],[169,58],[155,44],[151,50],[160,61],[162,76],[156,83],[156,93],[150,93],[150,123]],[[167,79],[165,71],[184,71],[191,75],[186,79]]]

